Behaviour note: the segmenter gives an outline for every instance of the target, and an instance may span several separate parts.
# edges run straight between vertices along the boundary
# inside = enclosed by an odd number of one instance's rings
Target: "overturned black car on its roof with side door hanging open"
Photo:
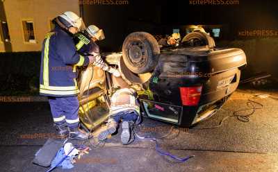
[[[195,125],[222,107],[246,66],[243,50],[218,48],[212,37],[198,31],[186,35],[179,46],[165,47],[149,33],[131,33],[121,53],[102,56],[122,77],[92,65],[79,74],[79,117],[88,131],[108,119],[110,97],[123,87],[136,89],[144,117]]]

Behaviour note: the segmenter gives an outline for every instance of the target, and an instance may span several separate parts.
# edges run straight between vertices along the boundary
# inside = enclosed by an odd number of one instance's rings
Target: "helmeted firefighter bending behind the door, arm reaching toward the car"
[[[108,71],[115,77],[120,77],[120,72],[113,67],[109,67],[101,58],[99,46],[96,42],[104,39],[104,31],[95,25],[90,25],[84,31],[74,35],[76,49],[81,55],[93,55],[95,57],[93,65],[100,67],[104,71]]]

